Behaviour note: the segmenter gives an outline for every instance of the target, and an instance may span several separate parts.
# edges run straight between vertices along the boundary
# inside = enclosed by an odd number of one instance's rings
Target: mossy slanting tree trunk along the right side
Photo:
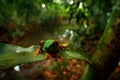
[[[92,57],[94,68],[97,75],[88,77],[87,80],[107,80],[110,74],[118,65],[120,58],[120,0],[116,1],[103,36],[97,46],[96,52]],[[89,65],[90,67],[90,65]],[[88,69],[88,68],[87,68]],[[86,72],[84,75],[86,75]],[[87,77],[87,76],[86,76]],[[82,80],[86,80],[82,78]]]

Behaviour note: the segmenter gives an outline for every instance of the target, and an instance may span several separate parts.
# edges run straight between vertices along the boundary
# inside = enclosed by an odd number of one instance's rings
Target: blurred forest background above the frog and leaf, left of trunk
[[[114,3],[112,0],[1,0],[0,42],[16,44],[29,36],[27,40],[32,39],[33,43],[54,35],[59,38],[73,35],[78,42],[91,38],[104,30]],[[27,42],[23,46],[31,45]]]

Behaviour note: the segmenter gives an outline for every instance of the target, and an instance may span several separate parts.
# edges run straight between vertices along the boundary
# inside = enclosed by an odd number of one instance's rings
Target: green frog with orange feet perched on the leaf
[[[41,53],[46,53],[46,59],[55,58],[58,60],[60,58],[59,51],[64,50],[65,47],[60,45],[56,40],[42,40],[39,43],[40,48],[36,51],[36,56]]]

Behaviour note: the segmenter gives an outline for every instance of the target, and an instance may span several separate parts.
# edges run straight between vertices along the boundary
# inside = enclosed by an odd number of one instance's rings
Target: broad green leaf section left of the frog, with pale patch
[[[20,46],[0,43],[0,69],[13,67],[18,64],[45,59],[45,54],[35,56],[38,46],[23,48]]]

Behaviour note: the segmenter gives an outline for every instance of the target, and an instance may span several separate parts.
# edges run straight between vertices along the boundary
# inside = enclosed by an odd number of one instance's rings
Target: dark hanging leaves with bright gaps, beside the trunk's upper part
[[[75,19],[77,24],[84,27],[84,21],[86,20],[88,27],[94,25],[98,31],[103,30],[114,3],[113,0],[73,0],[73,4],[68,1],[66,8],[69,8],[69,21],[72,22],[72,19]]]

